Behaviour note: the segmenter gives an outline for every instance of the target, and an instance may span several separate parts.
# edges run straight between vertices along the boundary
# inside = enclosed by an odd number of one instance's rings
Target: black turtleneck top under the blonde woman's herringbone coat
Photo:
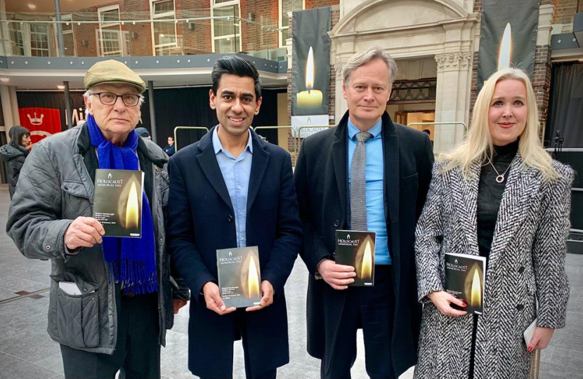
[[[494,145],[492,164],[498,173],[502,174],[510,167],[512,160],[516,157],[516,152],[518,152],[518,140],[505,146]],[[494,171],[489,161],[486,160],[482,164],[478,186],[478,248],[480,255],[486,258],[490,255],[494,227],[496,227],[498,210],[510,170],[506,171],[504,181],[501,183],[496,181],[498,173]]]

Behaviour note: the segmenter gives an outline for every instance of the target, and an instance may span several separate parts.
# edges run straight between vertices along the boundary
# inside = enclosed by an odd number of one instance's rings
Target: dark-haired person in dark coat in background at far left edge
[[[16,190],[16,183],[20,176],[22,165],[28,157],[30,145],[30,131],[24,126],[13,126],[10,129],[10,142],[0,147],[0,157],[8,164],[8,192],[12,199]]]

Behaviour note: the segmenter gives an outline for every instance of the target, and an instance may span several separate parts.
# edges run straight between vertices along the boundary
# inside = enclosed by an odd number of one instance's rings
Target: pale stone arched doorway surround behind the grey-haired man
[[[344,0],[340,6],[343,17],[330,32],[336,120],[346,112],[341,67],[356,51],[377,45],[395,60],[435,58],[435,121],[468,124],[471,65],[479,36],[479,16],[471,12],[473,1]],[[435,151],[449,149],[462,137],[463,128],[440,126],[435,133]]]

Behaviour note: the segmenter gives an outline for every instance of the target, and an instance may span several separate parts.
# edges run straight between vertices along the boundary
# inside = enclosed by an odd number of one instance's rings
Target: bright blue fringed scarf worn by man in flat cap
[[[118,147],[106,140],[90,114],[87,117],[91,145],[97,148],[99,168],[138,170],[138,134],[129,133],[126,142]],[[126,293],[158,291],[156,279],[156,240],[148,198],[142,192],[142,237],[103,237],[103,258],[112,270],[114,279],[122,282]]]

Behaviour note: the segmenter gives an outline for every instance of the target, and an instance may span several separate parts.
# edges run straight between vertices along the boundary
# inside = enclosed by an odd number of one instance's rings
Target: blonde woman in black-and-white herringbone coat
[[[532,350],[565,326],[573,171],[538,135],[528,76],[503,69],[480,91],[464,142],[436,162],[416,231],[424,310],[415,378],[527,378]],[[466,305],[445,292],[445,253],[487,258],[482,315],[452,307]]]

